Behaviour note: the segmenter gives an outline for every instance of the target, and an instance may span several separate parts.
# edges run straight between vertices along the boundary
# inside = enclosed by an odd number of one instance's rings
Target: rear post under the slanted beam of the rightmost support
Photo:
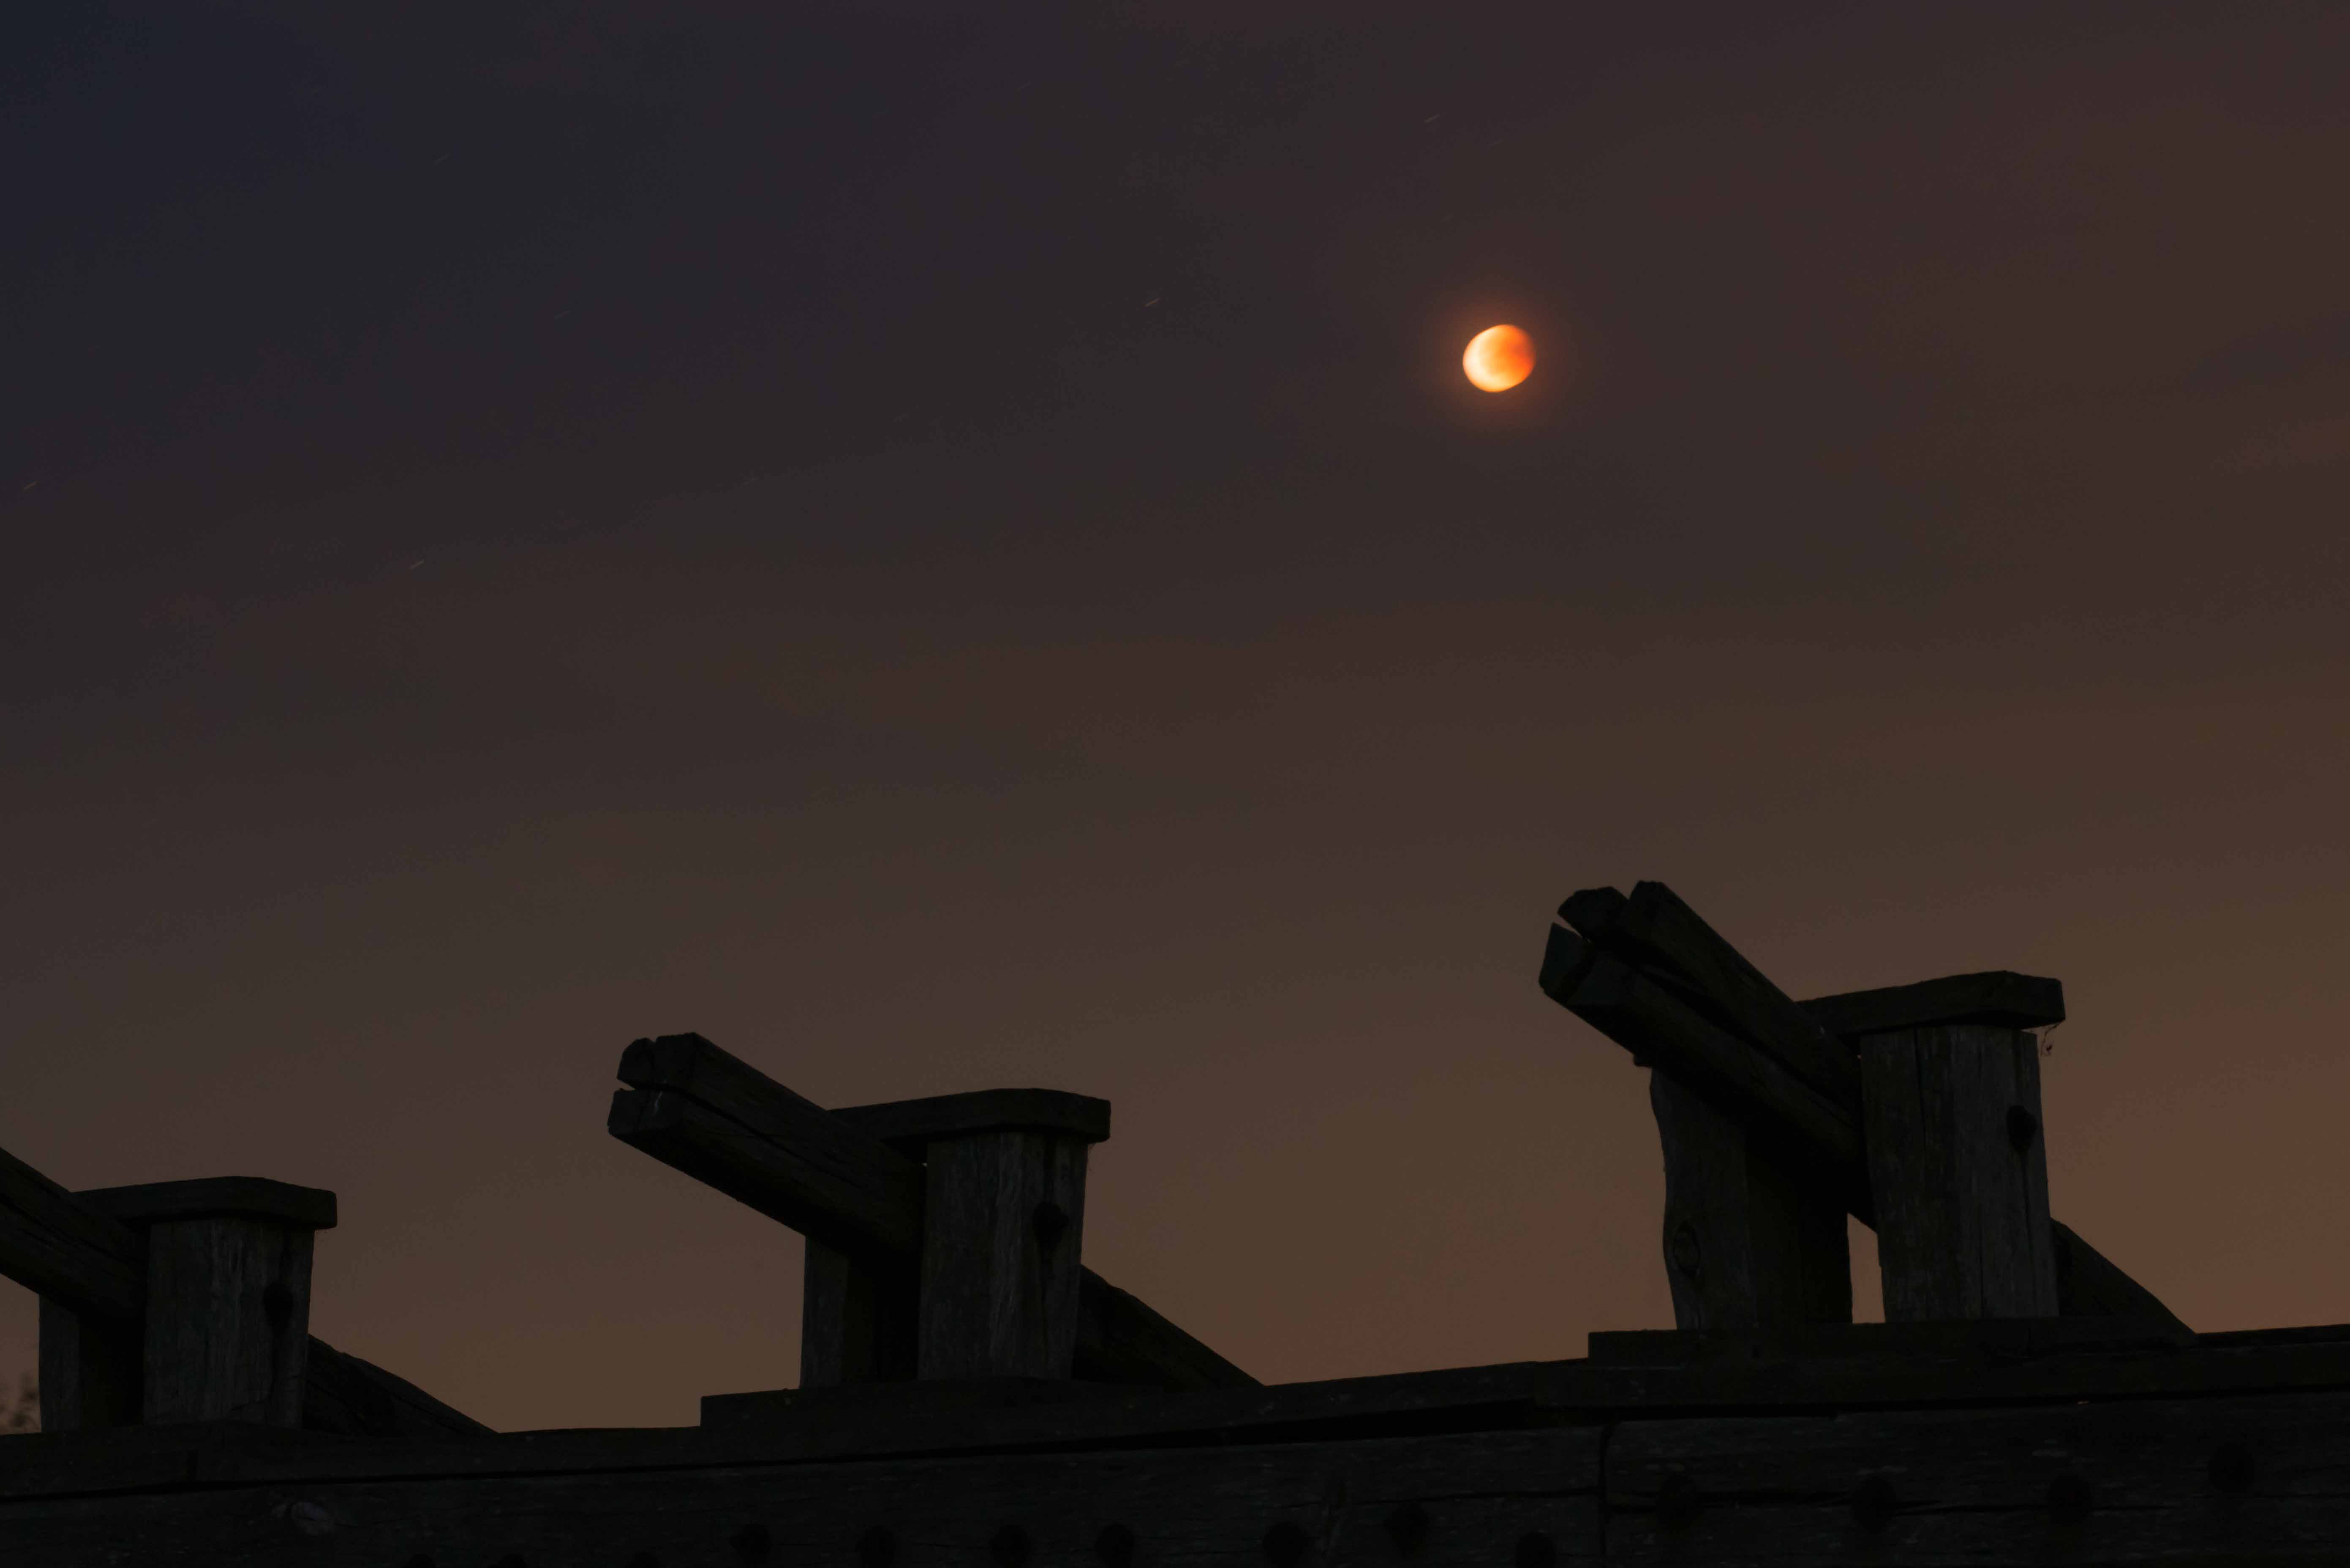
[[[1664,1145],[1664,1274],[1692,1333],[1852,1321],[1845,1194],[1737,1117],[1652,1072]]]

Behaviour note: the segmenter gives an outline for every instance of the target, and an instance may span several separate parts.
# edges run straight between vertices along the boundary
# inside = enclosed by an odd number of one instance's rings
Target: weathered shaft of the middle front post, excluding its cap
[[[1086,1140],[959,1133],[928,1145],[924,1378],[1067,1378],[1086,1227]]]

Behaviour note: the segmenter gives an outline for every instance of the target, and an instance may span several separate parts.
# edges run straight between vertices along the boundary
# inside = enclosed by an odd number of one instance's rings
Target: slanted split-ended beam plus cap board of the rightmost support
[[[1798,1004],[1661,882],[1631,898],[1567,898],[1542,959],[1542,990],[1636,1060],[1713,1095],[1777,1147],[1838,1173],[1847,1208],[1875,1225],[1861,1133],[1861,1067],[1849,1037],[1946,1023],[2035,1027],[2063,1018],[2054,980],[1953,976]],[[2054,1013],[2054,1016],[2052,1016]],[[2136,1316],[2188,1333],[2146,1286],[2054,1225],[2059,1312]]]

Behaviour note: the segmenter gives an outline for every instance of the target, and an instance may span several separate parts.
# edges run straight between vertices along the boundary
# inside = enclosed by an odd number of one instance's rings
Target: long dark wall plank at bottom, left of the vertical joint
[[[1546,1568],[1598,1556],[1598,1432],[1556,1429],[1175,1453],[228,1486],[0,1502],[0,1559],[157,1568],[416,1561]]]

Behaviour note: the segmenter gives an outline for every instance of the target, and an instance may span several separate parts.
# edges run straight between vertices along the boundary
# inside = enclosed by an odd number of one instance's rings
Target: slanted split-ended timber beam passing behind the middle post
[[[924,1171],[858,1124],[879,1133],[912,1126],[919,1114],[907,1105],[921,1103],[827,1112],[700,1034],[634,1041],[620,1056],[620,1081],[630,1088],[613,1093],[606,1121],[620,1143],[862,1267],[900,1279],[921,1267]],[[1034,1117],[1043,1107],[1090,1126],[1083,1119],[1093,1112],[1072,1110],[1083,1095],[1050,1100],[1006,1105],[1001,1114]],[[1079,1274],[1074,1375],[1168,1389],[1257,1382],[1093,1269]]]

